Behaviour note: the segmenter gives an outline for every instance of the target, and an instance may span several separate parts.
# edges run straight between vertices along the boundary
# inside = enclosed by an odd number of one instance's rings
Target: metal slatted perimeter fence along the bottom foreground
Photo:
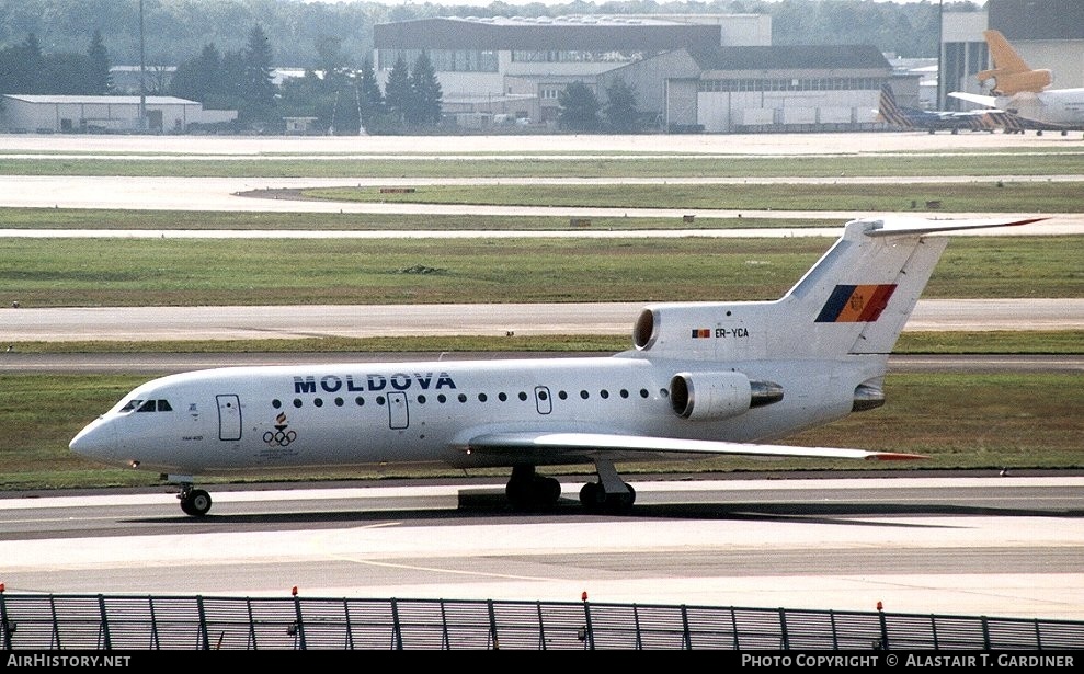
[[[4,650],[1064,650],[1084,622],[638,604],[0,594]]]

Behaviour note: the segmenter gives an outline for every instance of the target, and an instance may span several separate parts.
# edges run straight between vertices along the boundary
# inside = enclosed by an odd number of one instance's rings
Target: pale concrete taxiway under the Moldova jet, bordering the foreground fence
[[[579,489],[568,478],[566,493]],[[494,598],[1084,619],[1084,478],[631,480],[627,516],[493,480],[0,499],[7,592]],[[10,496],[10,494],[9,494]]]

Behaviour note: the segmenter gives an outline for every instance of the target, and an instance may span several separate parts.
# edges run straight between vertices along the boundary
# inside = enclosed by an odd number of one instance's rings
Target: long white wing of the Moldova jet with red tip
[[[674,437],[641,435],[612,435],[608,433],[488,433],[467,442],[465,452],[482,456],[504,458],[522,457],[524,462],[559,464],[583,460],[589,462],[601,455],[615,460],[623,457],[642,459],[644,454],[665,458],[686,455],[703,458],[707,455],[761,456],[761,457],[814,457],[832,459],[899,460],[924,459],[920,454],[897,452],[866,452],[835,447],[798,447],[790,445],[762,445],[756,443],[728,443]]]

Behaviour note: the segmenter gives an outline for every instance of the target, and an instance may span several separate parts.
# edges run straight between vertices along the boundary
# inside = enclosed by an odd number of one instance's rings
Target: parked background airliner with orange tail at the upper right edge
[[[979,82],[993,80],[991,92],[981,95],[954,91],[948,95],[999,108],[1024,121],[1025,128],[1042,130],[1084,129],[1084,89],[1047,89],[1049,70],[1034,70],[997,31],[984,31],[994,68],[978,73]]]

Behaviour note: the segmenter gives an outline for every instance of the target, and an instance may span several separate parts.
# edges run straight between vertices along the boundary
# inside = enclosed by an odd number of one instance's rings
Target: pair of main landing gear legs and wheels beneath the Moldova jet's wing
[[[587,482],[580,490],[580,503],[592,513],[619,513],[628,511],[636,501],[636,490],[623,481],[613,461],[595,461],[597,482]],[[561,483],[535,472],[534,466],[516,466],[505,488],[512,506],[521,511],[546,510],[557,505],[561,498]]]

